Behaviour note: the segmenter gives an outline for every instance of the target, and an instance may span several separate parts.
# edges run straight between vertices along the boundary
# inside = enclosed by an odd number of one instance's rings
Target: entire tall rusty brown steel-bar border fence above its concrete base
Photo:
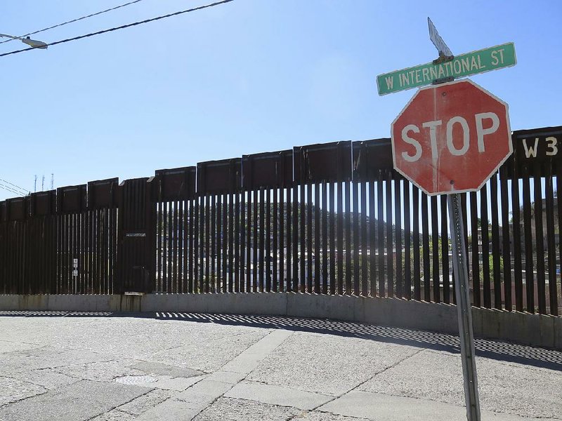
[[[462,194],[476,307],[558,315],[562,126]],[[292,291],[454,303],[446,196],[390,139],[163,169],[0,202],[0,294]]]

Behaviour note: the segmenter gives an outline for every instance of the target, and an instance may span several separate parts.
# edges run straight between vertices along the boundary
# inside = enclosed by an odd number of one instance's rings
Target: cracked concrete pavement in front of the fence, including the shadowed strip
[[[0,420],[466,420],[458,338],[187,313],[0,312]],[[562,353],[477,340],[483,420],[562,420]]]

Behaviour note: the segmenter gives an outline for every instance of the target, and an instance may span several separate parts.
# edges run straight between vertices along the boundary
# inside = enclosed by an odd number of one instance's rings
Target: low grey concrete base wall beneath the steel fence
[[[459,331],[455,305],[301,293],[0,295],[0,310],[260,314]],[[478,338],[562,350],[562,317],[473,307],[472,318]]]

